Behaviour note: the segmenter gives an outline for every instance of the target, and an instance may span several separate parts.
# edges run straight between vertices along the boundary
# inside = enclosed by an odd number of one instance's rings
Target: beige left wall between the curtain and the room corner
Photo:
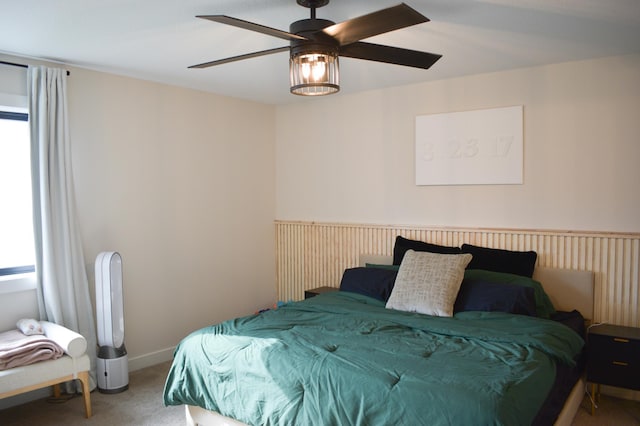
[[[93,292],[97,254],[122,255],[134,368],[197,328],[271,306],[275,108],[69,69],[85,263]],[[0,294],[0,307],[24,297]]]

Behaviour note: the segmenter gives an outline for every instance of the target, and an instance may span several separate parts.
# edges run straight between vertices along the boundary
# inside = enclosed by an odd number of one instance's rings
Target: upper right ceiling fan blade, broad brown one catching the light
[[[354,43],[411,25],[429,22],[429,18],[404,3],[331,25],[322,30],[340,46]]]

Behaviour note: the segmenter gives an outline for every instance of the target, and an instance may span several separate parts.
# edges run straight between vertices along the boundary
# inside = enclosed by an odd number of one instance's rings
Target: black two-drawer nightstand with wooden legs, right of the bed
[[[587,337],[587,381],[593,397],[600,385],[640,390],[640,328],[599,325]],[[596,393],[597,386],[597,393]],[[591,414],[595,404],[591,404]]]

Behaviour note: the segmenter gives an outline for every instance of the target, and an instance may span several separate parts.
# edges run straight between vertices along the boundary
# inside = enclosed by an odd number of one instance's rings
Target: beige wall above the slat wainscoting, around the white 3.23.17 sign
[[[415,185],[416,116],[511,105],[523,185]],[[281,106],[276,218],[638,232],[639,113],[639,55]]]

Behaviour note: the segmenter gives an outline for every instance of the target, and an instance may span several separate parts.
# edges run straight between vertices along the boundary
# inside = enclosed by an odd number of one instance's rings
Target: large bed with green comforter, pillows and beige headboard
[[[184,404],[192,425],[571,424],[585,389],[593,274],[533,268],[531,253],[416,243],[396,240],[401,259],[361,256],[340,291],[193,332],[176,349],[164,403]],[[496,255],[526,260],[524,275],[495,271]],[[424,265],[440,277],[433,265],[454,258],[461,282],[445,295],[449,311],[397,303]],[[483,309],[495,304],[491,285],[501,305]]]

